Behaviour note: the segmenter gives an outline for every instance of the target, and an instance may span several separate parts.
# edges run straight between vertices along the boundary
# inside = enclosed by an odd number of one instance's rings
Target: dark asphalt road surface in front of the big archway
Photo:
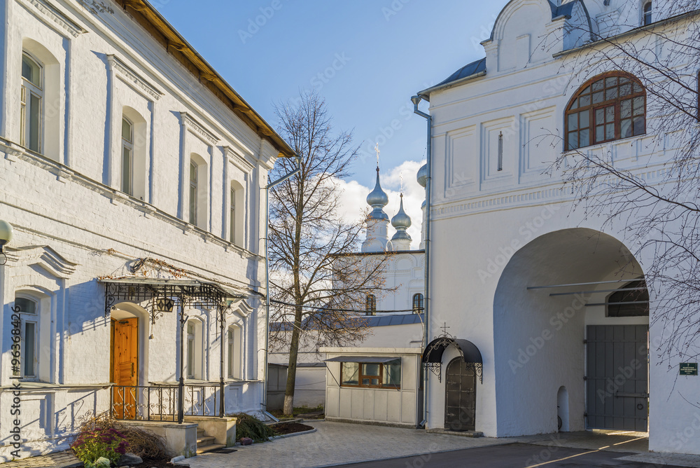
[[[616,460],[633,453],[582,450],[512,443],[505,446],[469,448],[414,457],[395,458],[344,465],[353,468],[681,468],[672,465],[644,464]]]

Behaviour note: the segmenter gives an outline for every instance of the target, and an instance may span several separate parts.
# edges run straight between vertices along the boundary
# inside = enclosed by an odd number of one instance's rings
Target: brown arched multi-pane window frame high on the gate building
[[[617,85],[614,87],[608,88],[606,84],[606,80],[608,78],[617,78]],[[625,95],[624,97],[620,97],[619,95],[619,88],[624,86],[624,84],[619,84],[619,78],[627,78],[629,79],[629,83],[631,86],[631,92],[629,95]],[[603,88],[600,91],[596,91],[593,89],[594,85],[600,81],[603,81]],[[635,92],[635,85],[638,85],[641,90],[638,92]],[[589,90],[590,88],[590,90]],[[615,92],[615,98],[613,99],[603,99],[601,102],[593,102],[593,96],[594,92],[607,92],[608,89],[615,88],[617,91]],[[577,99],[580,97],[590,97],[590,103],[587,104],[586,106],[580,106],[577,103]],[[634,134],[634,121],[635,121],[635,116],[634,116],[634,108],[633,108],[633,101],[634,99],[638,97],[643,97],[644,99],[644,111],[643,111],[643,118],[644,118],[644,128],[641,133],[638,133],[637,135]],[[629,137],[623,137],[622,136],[622,121],[627,120],[626,118],[622,118],[622,112],[620,110],[622,106],[622,102],[624,101],[630,101],[631,102],[631,116],[629,117],[629,120],[631,121],[631,130],[632,130],[632,135]],[[575,109],[572,108],[574,104],[577,104]],[[600,141],[597,141],[596,139],[596,127],[599,125],[596,125],[596,111],[598,110],[603,110],[603,118],[605,118],[605,109],[608,109],[610,107],[613,107],[613,118],[612,118],[612,124],[614,125],[614,135],[612,138],[608,138],[605,134],[603,135],[603,139]],[[580,125],[580,114],[588,111],[588,125],[587,127],[582,127]],[[577,119],[577,125],[575,130],[570,130],[569,129],[569,117],[570,116],[576,116]],[[637,116],[640,117],[640,116]],[[566,109],[564,111],[564,151],[575,151],[577,149],[582,149],[582,148],[588,148],[589,146],[596,146],[598,144],[605,144],[605,143],[610,143],[610,142],[616,142],[618,140],[622,139],[627,139],[627,138],[636,138],[636,137],[641,137],[643,135],[646,135],[647,132],[647,90],[644,87],[644,85],[641,83],[641,81],[636,78],[636,76],[626,73],[624,71],[608,71],[607,73],[600,74],[598,76],[594,76],[593,78],[590,78],[588,81],[583,83],[580,88],[577,89],[577,91],[574,93],[574,95],[569,99],[569,102],[566,104]],[[605,125],[609,125],[608,121],[603,122],[603,132],[605,132]],[[581,130],[589,130],[589,141],[588,144],[581,145],[580,144],[580,132]],[[574,147],[570,146],[570,132],[577,132],[577,144]]]

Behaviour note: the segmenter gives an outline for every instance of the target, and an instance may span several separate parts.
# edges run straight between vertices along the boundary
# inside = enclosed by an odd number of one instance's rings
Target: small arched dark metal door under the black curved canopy
[[[445,372],[444,428],[451,431],[476,429],[477,373],[461,357],[452,359]]]

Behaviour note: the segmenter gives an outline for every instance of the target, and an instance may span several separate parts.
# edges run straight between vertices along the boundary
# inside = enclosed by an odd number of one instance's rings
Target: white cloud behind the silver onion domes
[[[379,181],[381,182],[381,188],[384,189],[389,198],[389,203],[384,207],[384,211],[388,214],[389,219],[398,212],[400,203],[400,191],[401,191],[401,176],[403,176],[403,208],[411,217],[411,227],[408,228],[408,233],[413,239],[411,242],[412,249],[418,249],[421,242],[421,223],[423,221],[423,211],[421,210],[421,205],[423,201],[426,200],[426,192],[423,187],[420,186],[418,181],[416,181],[416,174],[421,168],[423,161],[405,161],[400,165],[391,168],[388,172],[379,173]],[[373,168],[371,169],[373,173]],[[374,179],[374,174],[372,176],[367,176],[367,174],[357,174],[361,179]],[[337,186],[342,190],[342,195],[340,195],[340,205],[341,214],[347,219],[360,220],[365,216],[365,212],[369,209],[365,199],[367,194],[372,191],[374,184],[371,187],[363,186],[358,181],[337,181]],[[388,233],[389,238],[396,232],[396,230],[389,224]]]

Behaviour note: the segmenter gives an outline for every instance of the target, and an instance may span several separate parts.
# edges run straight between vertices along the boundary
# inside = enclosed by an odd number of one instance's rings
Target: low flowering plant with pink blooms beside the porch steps
[[[78,460],[85,463],[86,467],[101,467],[104,462],[100,459],[104,458],[108,462],[116,463],[119,457],[127,453],[129,443],[123,434],[113,427],[106,429],[96,427],[80,432],[71,448]]]

